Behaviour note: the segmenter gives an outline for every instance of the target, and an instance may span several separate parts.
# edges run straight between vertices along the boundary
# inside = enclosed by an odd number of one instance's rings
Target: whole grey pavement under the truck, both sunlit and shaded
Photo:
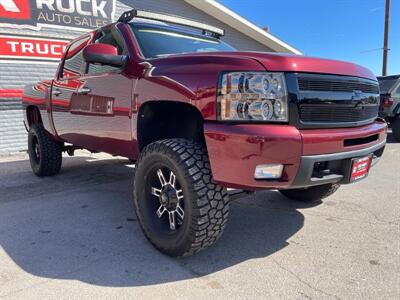
[[[400,299],[400,143],[323,203],[232,202],[218,243],[179,259],[143,236],[133,167],[79,151],[38,178],[0,157],[0,298]]]

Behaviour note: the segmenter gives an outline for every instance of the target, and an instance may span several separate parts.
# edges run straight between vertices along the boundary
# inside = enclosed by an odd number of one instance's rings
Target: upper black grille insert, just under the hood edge
[[[320,92],[353,92],[378,94],[377,83],[361,82],[357,80],[329,80],[319,78],[298,78],[299,89],[301,91],[320,91]]]

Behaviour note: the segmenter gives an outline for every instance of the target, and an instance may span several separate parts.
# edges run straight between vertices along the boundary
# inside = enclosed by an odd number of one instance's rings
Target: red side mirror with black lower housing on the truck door
[[[125,55],[118,55],[116,47],[108,44],[90,44],[83,49],[83,59],[87,63],[122,67],[126,62]]]

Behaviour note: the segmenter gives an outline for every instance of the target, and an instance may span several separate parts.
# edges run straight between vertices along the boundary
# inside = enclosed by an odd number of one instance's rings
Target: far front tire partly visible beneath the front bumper
[[[339,187],[339,184],[329,183],[304,189],[280,190],[280,192],[289,199],[312,203],[329,197],[335,193]]]

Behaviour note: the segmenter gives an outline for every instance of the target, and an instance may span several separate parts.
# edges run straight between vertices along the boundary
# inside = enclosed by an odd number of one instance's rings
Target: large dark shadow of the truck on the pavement
[[[231,203],[230,221],[215,246],[188,258],[164,256],[146,241],[134,215],[127,163],[64,158],[61,174],[51,178],[35,177],[28,161],[1,163],[0,246],[35,276],[142,286],[266,257],[303,226],[298,203],[279,192],[260,192]]]

